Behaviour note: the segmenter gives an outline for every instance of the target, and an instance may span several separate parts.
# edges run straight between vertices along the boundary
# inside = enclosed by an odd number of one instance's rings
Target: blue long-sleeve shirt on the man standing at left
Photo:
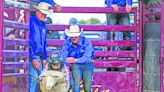
[[[37,55],[41,55],[43,59],[47,58],[47,42],[46,42],[46,24],[38,20],[36,15],[30,17],[30,58],[35,59]]]

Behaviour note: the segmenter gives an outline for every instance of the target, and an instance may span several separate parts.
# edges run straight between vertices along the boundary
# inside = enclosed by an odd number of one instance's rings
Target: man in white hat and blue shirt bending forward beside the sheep
[[[83,30],[78,25],[71,25],[65,29],[69,36],[62,48],[62,56],[67,63],[71,63],[72,76],[74,80],[73,92],[80,92],[80,79],[83,79],[85,92],[91,92],[93,64],[93,47],[91,42],[82,37]]]

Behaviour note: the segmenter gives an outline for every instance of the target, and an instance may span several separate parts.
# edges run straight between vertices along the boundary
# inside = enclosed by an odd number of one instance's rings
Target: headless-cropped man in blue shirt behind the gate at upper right
[[[112,7],[115,13],[107,14],[107,24],[108,25],[130,25],[129,12],[132,9],[132,0],[105,0],[107,7]],[[117,11],[119,7],[125,7],[127,13],[119,14]],[[130,40],[130,32],[114,32],[114,40]],[[109,39],[110,34],[107,33],[107,39]],[[115,50],[120,50],[122,48],[116,47]],[[127,49],[127,48],[125,48]]]

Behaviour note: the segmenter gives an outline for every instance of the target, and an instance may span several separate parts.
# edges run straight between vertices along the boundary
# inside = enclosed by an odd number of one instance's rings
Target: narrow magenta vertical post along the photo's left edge
[[[3,0],[0,0],[0,92],[2,92]]]

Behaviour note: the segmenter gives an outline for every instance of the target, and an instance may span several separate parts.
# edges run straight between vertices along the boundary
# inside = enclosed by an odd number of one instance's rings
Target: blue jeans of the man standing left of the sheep
[[[42,58],[40,56],[37,56],[36,59],[40,63],[40,69],[37,70],[32,65],[32,60],[30,59],[30,65],[29,65],[29,92],[40,92],[39,88],[39,75],[42,72]]]

